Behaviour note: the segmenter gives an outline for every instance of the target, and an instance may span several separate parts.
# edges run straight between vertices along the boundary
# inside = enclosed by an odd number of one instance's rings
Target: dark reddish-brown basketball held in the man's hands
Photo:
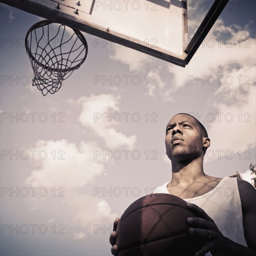
[[[175,195],[151,194],[133,202],[118,223],[118,256],[194,256],[205,240],[191,236],[195,214]]]

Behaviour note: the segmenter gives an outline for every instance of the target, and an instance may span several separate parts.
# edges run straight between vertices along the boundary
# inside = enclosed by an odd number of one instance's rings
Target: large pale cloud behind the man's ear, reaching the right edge
[[[211,123],[208,134],[211,150],[237,151],[253,148],[256,145],[255,87],[250,87],[246,94],[236,96],[234,104],[216,101],[215,121]],[[214,113],[215,114],[215,113]],[[218,118],[219,117],[219,118]],[[217,157],[217,154],[216,154]]]

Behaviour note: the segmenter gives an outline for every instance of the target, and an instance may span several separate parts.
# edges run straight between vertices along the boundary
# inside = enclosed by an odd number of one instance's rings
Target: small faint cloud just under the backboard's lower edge
[[[114,48],[114,54],[110,54],[110,59],[128,65],[130,71],[144,70],[146,65],[153,61],[152,58],[148,54],[124,46]]]

